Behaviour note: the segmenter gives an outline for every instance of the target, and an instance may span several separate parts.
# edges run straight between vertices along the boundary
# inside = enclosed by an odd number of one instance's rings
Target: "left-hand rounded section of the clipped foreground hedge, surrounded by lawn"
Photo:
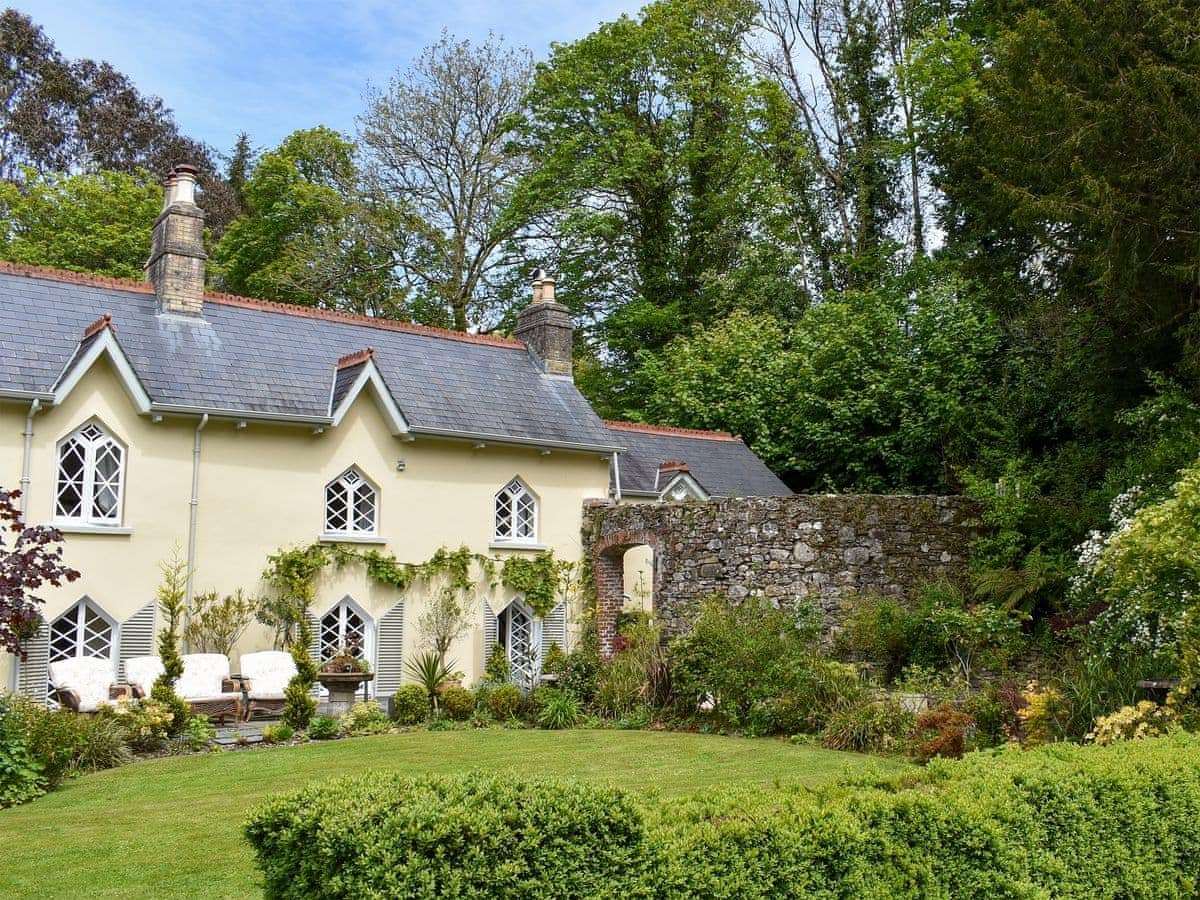
[[[612,787],[470,773],[370,773],[256,809],[269,898],[618,896],[648,865],[642,814]]]

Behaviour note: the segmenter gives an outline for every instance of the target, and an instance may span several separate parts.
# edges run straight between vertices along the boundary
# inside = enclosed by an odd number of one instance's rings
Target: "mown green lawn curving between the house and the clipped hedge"
[[[521,769],[682,796],[900,763],[784,740],[638,731],[408,732],[139,762],[0,810],[0,896],[258,896],[241,826],[265,794],[364,769]]]

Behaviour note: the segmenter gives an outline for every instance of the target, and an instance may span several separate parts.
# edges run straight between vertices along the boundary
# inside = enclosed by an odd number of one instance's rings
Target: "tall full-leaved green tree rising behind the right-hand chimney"
[[[539,66],[515,209],[594,323],[611,412],[636,402],[619,395],[636,395],[638,350],[733,308],[803,306],[756,142],[767,100],[742,55],[754,16],[743,0],[662,0]]]

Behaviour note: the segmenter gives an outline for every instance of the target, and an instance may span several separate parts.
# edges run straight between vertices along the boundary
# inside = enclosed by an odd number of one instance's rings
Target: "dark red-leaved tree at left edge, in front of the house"
[[[0,487],[0,648],[25,659],[22,642],[42,622],[34,595],[42,584],[58,587],[74,581],[79,572],[62,564],[62,533],[47,526],[26,527],[13,500],[20,491]],[[13,538],[12,535],[17,536]]]

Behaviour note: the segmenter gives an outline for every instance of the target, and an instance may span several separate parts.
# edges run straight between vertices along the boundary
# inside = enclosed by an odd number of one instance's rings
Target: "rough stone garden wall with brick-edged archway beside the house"
[[[595,566],[601,648],[612,648],[631,547],[654,551],[654,610],[667,635],[686,630],[716,592],[734,602],[751,594],[784,607],[815,601],[832,634],[856,596],[910,596],[922,582],[959,575],[978,514],[962,497],[878,494],[592,503],[583,544]]]

